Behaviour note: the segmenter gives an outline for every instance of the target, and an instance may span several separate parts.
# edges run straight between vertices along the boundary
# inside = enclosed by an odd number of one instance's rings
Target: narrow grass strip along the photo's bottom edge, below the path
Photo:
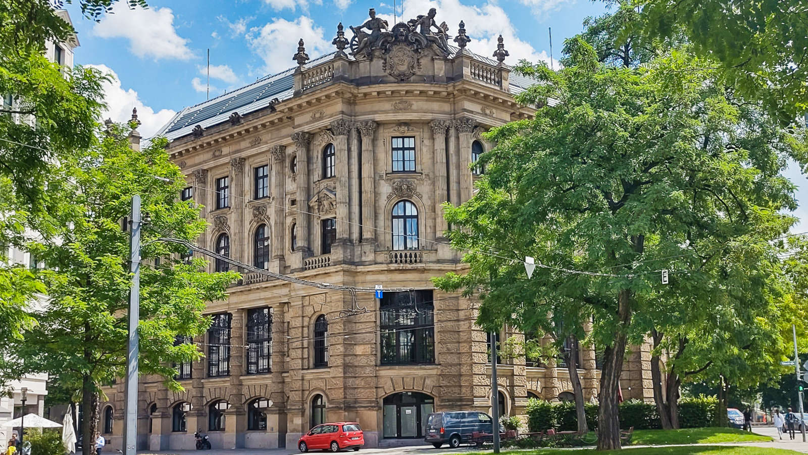
[[[592,449],[538,449],[519,452],[503,452],[503,454],[509,455],[593,455],[595,453],[598,455],[601,453],[625,453],[628,455],[688,455],[690,453],[696,453],[698,455],[793,455],[800,452],[785,449],[768,449],[763,447],[731,447],[715,445],[698,445],[690,447],[634,447],[609,452],[595,452]],[[482,453],[479,455],[482,455]]]

